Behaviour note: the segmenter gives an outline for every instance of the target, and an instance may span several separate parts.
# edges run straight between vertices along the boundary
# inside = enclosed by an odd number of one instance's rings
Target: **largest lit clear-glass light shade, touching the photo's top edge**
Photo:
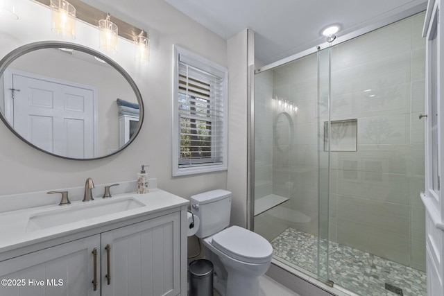
[[[74,39],[76,37],[76,8],[65,0],[51,0],[49,6],[52,10],[51,31]]]

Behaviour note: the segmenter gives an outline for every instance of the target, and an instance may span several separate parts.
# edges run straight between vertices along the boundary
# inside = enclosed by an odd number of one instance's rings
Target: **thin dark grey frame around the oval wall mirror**
[[[102,159],[105,157],[109,157],[111,155],[115,155],[119,152],[121,152],[121,150],[125,149],[126,147],[128,147],[130,145],[130,143],[133,143],[134,139],[137,137],[137,135],[140,132],[140,129],[142,128],[142,123],[144,122],[144,101],[142,100],[142,94],[140,94],[139,92],[139,88],[137,87],[135,81],[133,80],[133,78],[131,78],[131,76],[128,74],[128,72],[126,72],[123,67],[121,67],[119,64],[117,64],[117,62],[114,62],[114,60],[108,58],[108,56],[104,55],[103,53],[100,53],[99,51],[96,51],[94,49],[90,49],[87,46],[83,46],[80,44],[74,44],[74,43],[70,43],[70,42],[58,42],[58,41],[42,41],[42,42],[33,42],[30,44],[25,44],[23,46],[18,47],[17,49],[14,49],[13,51],[11,51],[10,53],[8,53],[7,55],[5,55],[4,58],[2,58],[0,60],[0,77],[3,75],[3,72],[8,68],[8,66],[10,65],[10,63],[12,63],[14,60],[16,60],[17,58],[21,57],[22,55],[25,55],[26,53],[30,53],[31,51],[37,51],[39,49],[55,49],[55,48],[67,48],[67,49],[74,49],[76,51],[83,51],[84,53],[89,53],[90,55],[94,55],[97,58],[100,58],[101,60],[104,60],[105,62],[107,62],[111,67],[113,67],[114,69],[116,69],[121,76],[123,76],[123,78],[125,78],[125,80],[130,84],[130,87],[133,89],[135,96],[137,98],[137,103],[139,103],[139,125],[137,125],[137,129],[135,130],[133,137],[130,138],[130,140],[128,142],[125,143],[125,145],[121,146],[119,149],[115,150],[113,153],[110,153],[108,155],[103,155],[103,156],[99,156],[99,157],[92,157],[92,158],[73,158],[73,157],[65,157],[62,155],[56,155],[54,153],[50,153],[46,150],[43,150],[42,148],[39,148],[37,146],[35,146],[33,143],[31,143],[30,141],[24,139],[24,137],[22,137],[20,134],[18,134],[14,128],[10,125],[10,123],[8,123],[8,121],[6,120],[6,118],[3,116],[3,113],[0,112],[0,119],[1,121],[3,121],[3,123],[5,123],[5,125],[9,128],[9,130],[15,134],[15,136],[17,136],[19,139],[21,139],[22,141],[24,141],[25,143],[27,143],[29,146],[42,151],[43,153],[49,154],[49,155],[53,155],[56,157],[60,157],[63,159],[72,159],[72,160],[93,160],[93,159]]]

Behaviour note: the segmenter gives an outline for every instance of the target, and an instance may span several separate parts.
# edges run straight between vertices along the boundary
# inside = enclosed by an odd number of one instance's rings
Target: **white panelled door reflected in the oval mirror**
[[[3,76],[13,114],[6,119],[24,139],[63,157],[96,155],[96,87],[12,69]]]

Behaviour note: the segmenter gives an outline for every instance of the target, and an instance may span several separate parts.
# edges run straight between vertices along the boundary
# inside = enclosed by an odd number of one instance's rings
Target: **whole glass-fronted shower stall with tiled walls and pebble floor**
[[[426,295],[424,17],[257,69],[253,225],[273,263]]]

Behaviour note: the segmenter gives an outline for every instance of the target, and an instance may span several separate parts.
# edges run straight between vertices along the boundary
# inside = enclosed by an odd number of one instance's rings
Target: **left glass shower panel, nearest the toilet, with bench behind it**
[[[329,160],[324,139],[327,58],[328,51],[320,51],[256,73],[254,104],[254,230],[271,241],[275,262],[325,282],[329,247]],[[323,65],[318,69],[320,62]]]

